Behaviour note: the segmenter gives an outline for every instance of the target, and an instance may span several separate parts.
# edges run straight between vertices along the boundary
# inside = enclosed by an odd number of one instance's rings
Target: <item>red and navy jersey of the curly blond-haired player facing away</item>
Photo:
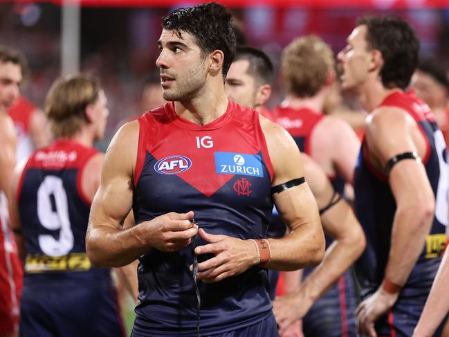
[[[277,124],[291,134],[300,151],[313,158],[311,149],[312,134],[316,125],[324,118],[324,115],[308,108],[292,109],[290,107],[277,107],[273,115]],[[332,183],[333,189],[340,195],[344,195],[345,179],[342,176],[328,176],[328,178]]]

